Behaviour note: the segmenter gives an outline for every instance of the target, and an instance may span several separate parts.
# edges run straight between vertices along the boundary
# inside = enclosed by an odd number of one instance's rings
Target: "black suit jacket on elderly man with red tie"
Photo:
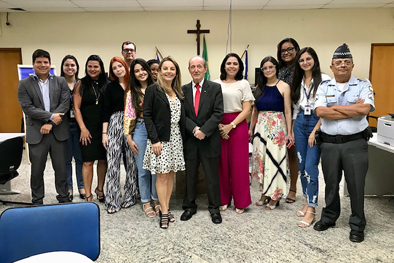
[[[223,117],[223,96],[219,84],[204,80],[201,89],[198,115],[194,112],[192,82],[182,86],[185,94],[184,104],[186,113],[185,158],[197,157],[200,150],[206,157],[216,157],[221,154],[220,133],[218,125]],[[206,138],[199,140],[193,135],[193,129],[198,126]]]

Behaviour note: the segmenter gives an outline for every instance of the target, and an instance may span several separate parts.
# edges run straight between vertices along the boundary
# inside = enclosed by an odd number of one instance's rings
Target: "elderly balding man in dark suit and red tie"
[[[219,84],[204,79],[207,63],[201,57],[189,61],[193,81],[182,87],[185,94],[186,191],[181,220],[196,213],[197,177],[200,163],[204,169],[208,193],[208,210],[212,221],[222,222],[220,216],[219,155],[221,153],[218,125],[223,116],[223,96]]]

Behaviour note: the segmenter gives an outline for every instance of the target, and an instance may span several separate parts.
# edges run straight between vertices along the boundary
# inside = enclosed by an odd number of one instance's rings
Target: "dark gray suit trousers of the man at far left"
[[[29,144],[30,161],[32,162],[32,175],[30,185],[32,188],[32,202],[42,204],[44,198],[44,170],[48,153],[52,159],[55,170],[55,187],[59,202],[68,202],[69,186],[66,175],[67,140],[58,141],[52,131],[43,136],[38,144]]]

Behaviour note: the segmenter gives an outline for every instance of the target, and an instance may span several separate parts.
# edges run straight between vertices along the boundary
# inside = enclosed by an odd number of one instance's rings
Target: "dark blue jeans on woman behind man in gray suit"
[[[75,172],[77,174],[78,189],[84,188],[84,180],[82,178],[82,154],[79,145],[81,131],[76,121],[70,121],[70,138],[67,140],[66,155],[66,173],[69,189],[73,189],[73,166],[71,161],[75,160]]]

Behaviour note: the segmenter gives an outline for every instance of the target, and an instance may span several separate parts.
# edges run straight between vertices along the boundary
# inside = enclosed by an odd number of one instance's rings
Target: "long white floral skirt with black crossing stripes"
[[[290,170],[282,112],[260,111],[253,134],[252,185],[272,200],[286,197]]]

